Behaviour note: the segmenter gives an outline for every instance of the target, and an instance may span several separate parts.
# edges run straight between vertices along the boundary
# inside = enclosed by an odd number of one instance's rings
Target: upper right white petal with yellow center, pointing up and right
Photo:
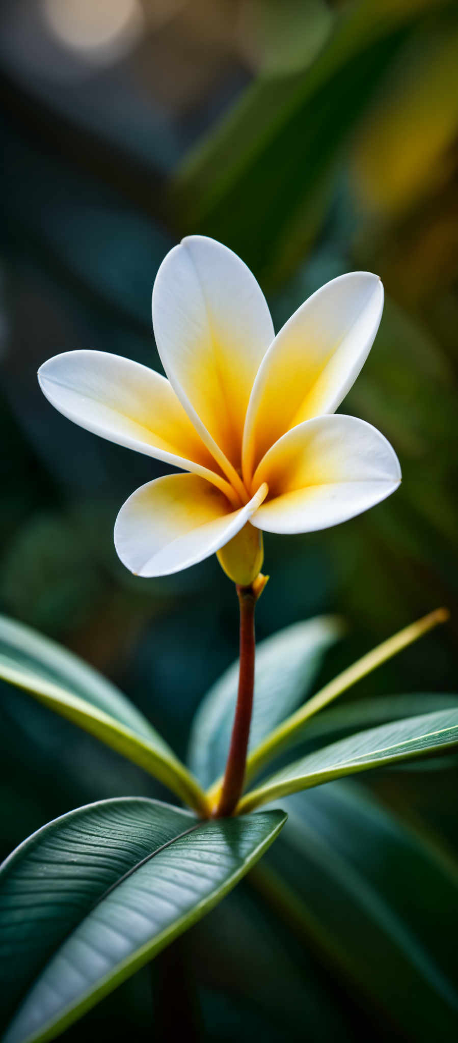
[[[378,275],[349,272],[317,290],[291,316],[267,351],[249,399],[243,475],[297,423],[334,413],[355,382],[379,329]]]

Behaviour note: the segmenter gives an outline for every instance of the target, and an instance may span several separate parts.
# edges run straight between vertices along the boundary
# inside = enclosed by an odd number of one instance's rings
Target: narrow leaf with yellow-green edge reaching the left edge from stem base
[[[197,810],[207,800],[196,779],[128,700],[76,656],[28,627],[2,620],[0,678],[77,724],[149,772]]]

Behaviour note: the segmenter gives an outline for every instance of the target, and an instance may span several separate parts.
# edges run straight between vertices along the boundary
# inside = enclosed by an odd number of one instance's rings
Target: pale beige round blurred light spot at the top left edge
[[[42,0],[46,22],[62,44],[87,57],[117,57],[143,28],[139,0]]]

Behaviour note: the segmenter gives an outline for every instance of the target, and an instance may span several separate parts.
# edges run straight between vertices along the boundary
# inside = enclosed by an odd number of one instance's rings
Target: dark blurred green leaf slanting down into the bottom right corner
[[[403,1039],[455,1038],[458,867],[354,781],[285,800],[250,877]],[[345,985],[345,989],[347,986]]]

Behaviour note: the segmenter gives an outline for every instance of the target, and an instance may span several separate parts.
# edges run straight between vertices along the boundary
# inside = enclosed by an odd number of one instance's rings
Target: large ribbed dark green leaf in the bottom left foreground
[[[121,798],[30,836],[0,871],[4,1043],[53,1039],[220,901],[285,821]]]

